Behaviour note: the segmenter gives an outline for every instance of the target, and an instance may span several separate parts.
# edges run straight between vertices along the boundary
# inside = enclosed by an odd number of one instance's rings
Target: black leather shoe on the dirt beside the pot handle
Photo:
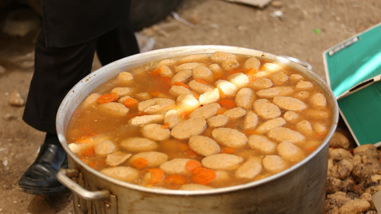
[[[61,168],[67,168],[67,156],[61,146],[42,144],[33,164],[21,176],[18,189],[30,194],[53,195],[66,190],[56,177]]]

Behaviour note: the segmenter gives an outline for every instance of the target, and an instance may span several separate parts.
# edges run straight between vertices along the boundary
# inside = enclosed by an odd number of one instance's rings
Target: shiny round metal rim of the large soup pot
[[[212,190],[195,190],[195,191],[153,189],[153,188],[148,188],[148,187],[118,180],[118,179],[106,176],[105,174],[102,174],[101,172],[92,169],[91,167],[86,165],[84,162],[82,162],[69,149],[65,139],[65,131],[66,131],[68,121],[70,120],[70,117],[74,109],[77,108],[80,102],[85,98],[85,96],[87,96],[87,94],[84,95],[84,94],[81,94],[81,92],[76,92],[76,91],[81,91],[81,88],[84,88],[84,87],[85,88],[88,87],[88,88],[91,88],[91,90],[93,90],[95,87],[99,86],[100,84],[106,82],[109,79],[109,78],[106,79],[107,77],[106,74],[109,72],[114,73],[114,75],[112,76],[114,77],[121,71],[136,67],[141,64],[146,64],[153,60],[154,61],[164,60],[164,59],[192,55],[192,54],[211,54],[215,51],[226,51],[232,54],[263,57],[265,59],[274,60],[275,62],[286,64],[288,66],[296,68],[299,72],[307,75],[316,84],[318,84],[318,86],[320,86],[323,89],[327,97],[328,104],[331,107],[331,111],[332,111],[330,128],[327,132],[326,137],[324,138],[323,142],[318,146],[318,148],[314,150],[311,154],[309,154],[307,157],[305,157],[303,160],[301,160],[300,162],[290,167],[289,169],[285,171],[281,171],[269,177],[266,177],[257,181],[252,181],[250,183],[231,186],[231,187],[216,188]],[[160,56],[160,58],[155,58],[158,56]],[[116,68],[119,68],[119,69],[116,69]],[[98,80],[99,79],[102,80],[102,81],[95,82],[95,83],[99,83],[99,85],[95,85],[91,81],[95,77],[98,78]],[[82,98],[78,99],[79,96],[82,96]],[[72,107],[72,105],[69,105],[73,102],[76,103],[75,107]],[[71,112],[68,112],[68,111],[71,111]],[[142,191],[142,192],[148,192],[148,193],[171,194],[171,195],[204,195],[204,194],[207,195],[207,194],[227,193],[227,192],[238,191],[238,190],[242,190],[246,188],[252,188],[252,187],[259,186],[264,183],[268,183],[270,181],[279,179],[283,177],[284,175],[292,171],[295,171],[297,168],[301,167],[302,165],[310,161],[310,159],[312,159],[317,153],[323,150],[327,144],[329,144],[329,140],[332,137],[337,127],[338,121],[339,121],[339,107],[332,90],[330,89],[330,87],[327,85],[327,83],[324,80],[322,80],[316,73],[314,73],[312,70],[309,70],[307,67],[301,64],[295,63],[293,61],[290,61],[289,59],[286,59],[284,57],[277,56],[277,55],[263,52],[263,51],[259,51],[259,50],[255,50],[255,49],[249,49],[249,48],[237,47],[237,46],[227,46],[227,45],[188,45],[188,46],[177,46],[177,47],[156,49],[156,50],[151,50],[144,53],[135,54],[135,55],[117,60],[110,64],[106,64],[105,66],[93,71],[92,73],[84,77],[75,86],[73,86],[64,97],[57,112],[56,129],[57,129],[58,138],[63,146],[63,149],[66,151],[67,155],[70,156],[70,158],[74,159],[74,161],[77,164],[79,164],[81,167],[83,167],[86,171],[89,171],[104,180],[114,183],[115,185],[124,186],[136,191]]]

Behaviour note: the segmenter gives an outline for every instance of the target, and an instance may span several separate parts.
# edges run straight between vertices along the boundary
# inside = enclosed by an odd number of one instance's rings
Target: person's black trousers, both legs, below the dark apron
[[[67,92],[91,72],[97,51],[102,65],[139,53],[129,21],[86,43],[46,47],[43,29],[36,42],[35,70],[22,119],[33,128],[56,133],[56,115]]]

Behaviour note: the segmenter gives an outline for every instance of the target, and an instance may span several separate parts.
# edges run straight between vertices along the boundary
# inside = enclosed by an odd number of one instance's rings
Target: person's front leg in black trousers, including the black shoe
[[[46,48],[43,33],[40,33],[23,120],[46,132],[46,136],[36,160],[21,176],[19,190],[51,195],[66,189],[56,178],[59,169],[67,166],[66,153],[56,133],[56,114],[66,93],[91,72],[94,52],[95,41],[65,48]]]

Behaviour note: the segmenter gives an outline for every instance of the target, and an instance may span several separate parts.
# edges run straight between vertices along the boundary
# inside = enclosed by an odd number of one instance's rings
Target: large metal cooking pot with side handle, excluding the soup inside
[[[287,64],[306,74],[327,97],[332,120],[324,142],[290,169],[248,184],[199,191],[150,189],[108,177],[83,163],[67,146],[69,119],[79,103],[106,80],[137,65],[183,55],[226,51],[264,57]],[[294,60],[295,59],[291,59]],[[327,177],[328,148],[339,118],[336,99],[327,84],[306,67],[282,56],[220,45],[171,47],[133,55],[94,71],[74,86],[57,114],[57,132],[67,152],[69,169],[57,177],[73,192],[76,214],[322,214]]]

